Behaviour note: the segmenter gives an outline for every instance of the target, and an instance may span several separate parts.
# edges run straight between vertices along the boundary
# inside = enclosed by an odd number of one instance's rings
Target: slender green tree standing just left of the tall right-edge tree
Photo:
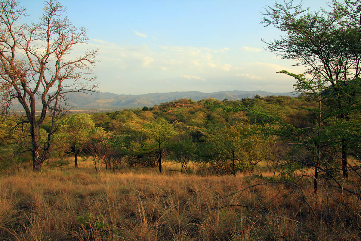
[[[313,121],[313,124],[310,123],[305,128],[293,131],[293,133],[299,133],[299,135],[291,135],[296,137],[296,140],[293,139],[291,142],[304,146],[304,149],[310,153],[308,164],[311,164],[314,169],[314,192],[316,193],[319,173],[325,170],[332,173],[333,171],[329,168],[332,168],[334,163],[331,160],[334,160],[337,156],[330,155],[333,153],[330,147],[338,142],[338,138],[334,138],[337,135],[332,137],[329,132],[329,129],[335,129],[334,125],[332,125],[332,117],[335,116],[335,112],[323,104],[323,102],[333,97],[333,93],[329,91],[330,87],[327,85],[327,81],[319,75],[309,79],[304,78],[302,74],[296,75],[285,70],[280,72],[295,78],[297,80],[297,83],[293,85],[295,90],[306,94],[310,101],[317,103],[317,107],[304,108],[309,111],[310,116],[314,116],[313,119],[316,121]]]

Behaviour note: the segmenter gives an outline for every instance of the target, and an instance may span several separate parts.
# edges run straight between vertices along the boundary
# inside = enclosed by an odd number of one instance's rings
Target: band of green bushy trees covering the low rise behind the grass
[[[313,169],[319,175],[347,176],[360,167],[360,115],[348,111],[348,121],[330,115],[319,125],[319,103],[314,96],[256,96],[242,101],[193,102],[180,99],[159,106],[123,111],[75,114],[62,118],[51,140],[46,163],[68,165],[69,156],[92,160],[97,173],[123,165],[158,167],[165,161],[180,163],[190,173],[197,164],[201,174],[251,171],[262,163],[284,178],[296,170]],[[322,118],[322,117],[321,117]],[[26,123],[16,116],[1,122],[0,165],[3,171],[30,162],[31,140]],[[51,120],[39,131],[46,143]],[[348,138],[349,167],[342,166],[342,140]],[[45,144],[43,144],[45,145]],[[353,160],[353,161],[352,161]],[[179,171],[179,170],[178,170]],[[315,181],[315,190],[317,183]]]

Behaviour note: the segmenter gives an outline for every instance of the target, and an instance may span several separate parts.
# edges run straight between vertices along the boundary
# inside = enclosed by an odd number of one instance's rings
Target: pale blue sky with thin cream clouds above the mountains
[[[87,28],[88,43],[74,47],[70,56],[98,50],[94,73],[101,92],[291,92],[294,79],[276,72],[303,71],[265,50],[261,39],[282,34],[260,24],[264,8],[274,0],[59,2],[72,23]],[[23,21],[39,21],[43,1],[20,4],[28,14]],[[303,4],[311,10],[327,8],[327,1]]]

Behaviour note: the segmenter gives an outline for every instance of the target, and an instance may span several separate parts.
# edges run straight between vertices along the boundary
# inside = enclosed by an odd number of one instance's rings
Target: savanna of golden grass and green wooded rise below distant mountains
[[[360,240],[358,132],[335,131],[334,119],[315,128],[315,105],[181,99],[67,115],[39,172],[7,117],[1,240]]]

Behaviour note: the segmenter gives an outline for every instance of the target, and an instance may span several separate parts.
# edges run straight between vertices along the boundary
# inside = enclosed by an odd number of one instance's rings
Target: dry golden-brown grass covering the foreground
[[[258,185],[222,198],[273,173],[200,177],[126,169],[95,175],[86,162],[80,167],[1,177],[0,239],[361,240],[360,202],[335,189],[314,195],[308,180],[301,189]],[[257,210],[224,207],[234,204]],[[77,218],[87,214],[82,225]]]

